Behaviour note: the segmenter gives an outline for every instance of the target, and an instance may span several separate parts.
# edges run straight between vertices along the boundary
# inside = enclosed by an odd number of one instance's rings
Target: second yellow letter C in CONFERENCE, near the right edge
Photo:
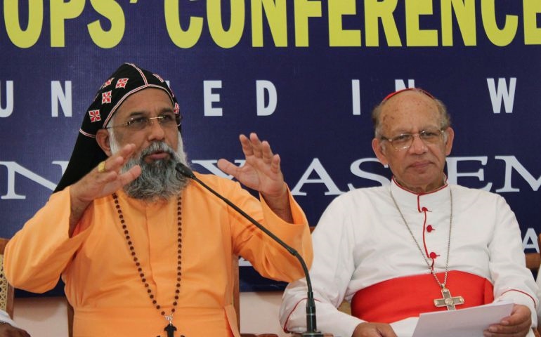
[[[505,15],[505,24],[499,29],[496,24],[496,8],[494,0],[481,0],[481,16],[486,36],[496,46],[507,46],[513,41],[519,18],[516,15]]]

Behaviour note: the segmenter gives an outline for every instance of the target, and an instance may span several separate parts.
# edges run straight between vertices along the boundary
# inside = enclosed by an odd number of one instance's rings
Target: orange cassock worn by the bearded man
[[[303,211],[289,194],[294,224],[238,183],[197,176],[312,260]],[[177,199],[147,203],[117,192],[129,236],[157,310],[133,261],[112,196],[86,209],[68,237],[69,187],[51,196],[6,248],[5,272],[15,287],[52,289],[60,275],[74,307],[74,336],[165,336],[173,308],[178,259]],[[261,198],[263,199],[263,198]],[[181,287],[173,324],[181,334],[239,336],[233,308],[233,254],[249,260],[264,277],[291,282],[303,277],[299,261],[203,187],[190,183],[181,198]]]

